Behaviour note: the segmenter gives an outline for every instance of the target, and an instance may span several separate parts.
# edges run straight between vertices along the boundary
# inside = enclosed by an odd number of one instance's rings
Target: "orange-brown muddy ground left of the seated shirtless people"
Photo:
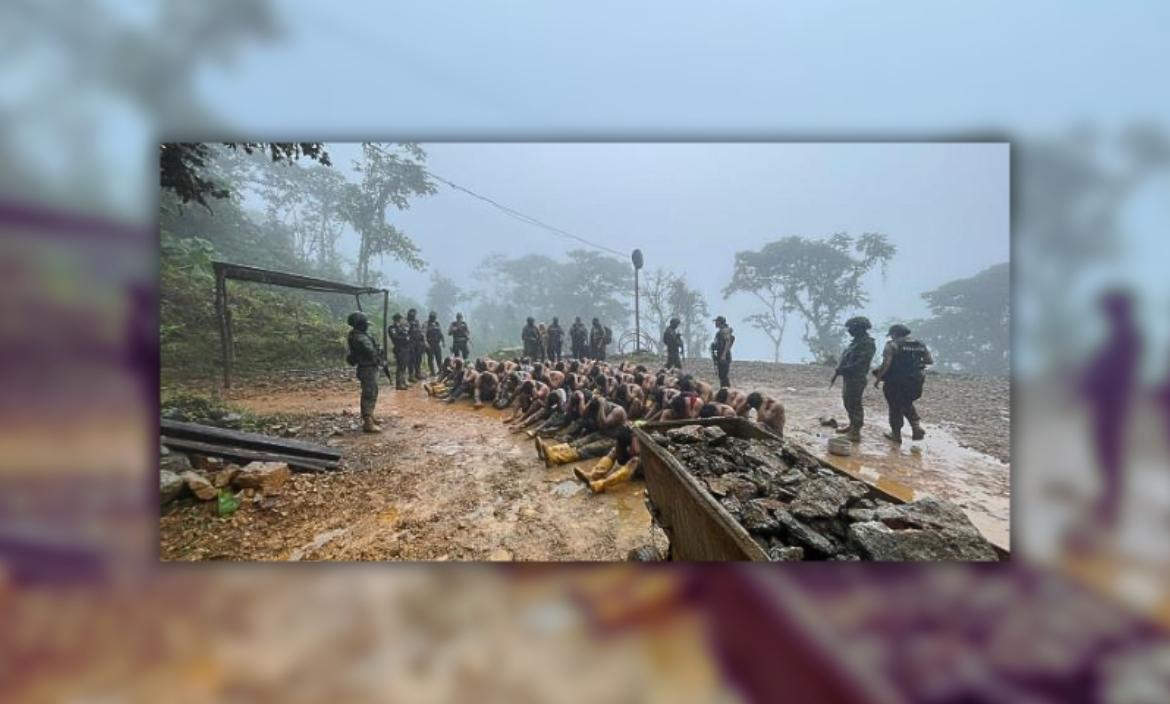
[[[164,509],[164,560],[621,560],[652,533],[640,482],[593,496],[546,469],[494,409],[381,389],[385,433],[357,430],[352,372],[246,385],[230,401],[344,450],[344,470],[296,474],[281,496],[220,518]],[[342,435],[333,436],[332,433]]]

